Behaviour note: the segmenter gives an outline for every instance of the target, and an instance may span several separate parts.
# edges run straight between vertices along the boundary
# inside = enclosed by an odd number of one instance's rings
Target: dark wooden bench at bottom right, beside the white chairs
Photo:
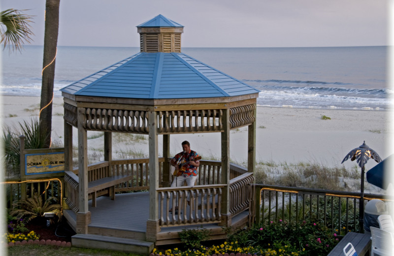
[[[343,248],[352,243],[358,256],[369,256],[371,251],[371,235],[355,232],[347,233],[341,241],[332,249],[328,256],[343,256]]]

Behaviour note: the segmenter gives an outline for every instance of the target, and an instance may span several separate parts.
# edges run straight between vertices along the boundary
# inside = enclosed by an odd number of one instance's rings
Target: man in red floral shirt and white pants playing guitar
[[[171,184],[171,187],[180,187],[186,181],[187,186],[194,186],[197,179],[197,168],[200,166],[196,151],[190,149],[188,141],[182,142],[183,151],[176,154],[170,161],[170,164],[175,167],[176,178]]]

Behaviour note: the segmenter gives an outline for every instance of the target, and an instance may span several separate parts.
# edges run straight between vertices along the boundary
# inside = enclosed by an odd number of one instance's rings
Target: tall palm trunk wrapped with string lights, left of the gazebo
[[[44,60],[42,65],[42,84],[40,102],[40,133],[46,139],[45,147],[51,146],[52,100],[55,80],[55,60],[59,34],[60,0],[46,0]]]

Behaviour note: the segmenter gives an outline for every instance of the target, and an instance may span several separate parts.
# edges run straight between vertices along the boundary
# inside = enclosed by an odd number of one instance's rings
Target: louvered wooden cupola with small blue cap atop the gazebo
[[[137,26],[137,32],[140,34],[141,52],[181,52],[183,26],[161,14]]]

